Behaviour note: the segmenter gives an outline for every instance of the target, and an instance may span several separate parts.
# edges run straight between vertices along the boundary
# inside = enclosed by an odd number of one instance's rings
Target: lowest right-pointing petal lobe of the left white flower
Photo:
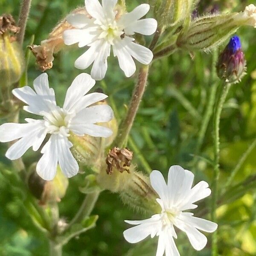
[[[113,134],[113,131],[101,125],[71,125],[70,129],[78,136],[88,134],[93,137],[108,138]]]

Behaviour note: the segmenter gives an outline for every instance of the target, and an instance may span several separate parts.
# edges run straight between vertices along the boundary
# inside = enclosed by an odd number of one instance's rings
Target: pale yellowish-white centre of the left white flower
[[[68,125],[72,115],[68,114],[64,109],[59,107],[51,112],[44,112],[43,114],[48,133],[60,133],[67,137],[70,136]]]

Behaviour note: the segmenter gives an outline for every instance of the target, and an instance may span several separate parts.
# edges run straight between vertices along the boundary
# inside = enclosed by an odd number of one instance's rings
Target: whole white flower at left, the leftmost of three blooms
[[[63,108],[56,105],[55,93],[49,88],[47,74],[38,76],[34,81],[35,91],[25,86],[12,90],[12,93],[27,106],[24,110],[43,116],[43,120],[26,118],[27,123],[5,123],[0,126],[0,142],[19,139],[6,152],[11,160],[21,157],[30,147],[37,151],[47,134],[49,140],[41,150],[43,156],[38,161],[36,171],[44,180],[52,180],[57,164],[67,177],[73,177],[79,171],[78,163],[70,152],[73,146],[68,140],[70,132],[83,136],[109,137],[112,131],[98,122],[108,122],[113,111],[108,105],[95,105],[108,96],[103,93],[85,95],[95,84],[90,75],[77,76],[67,90]]]

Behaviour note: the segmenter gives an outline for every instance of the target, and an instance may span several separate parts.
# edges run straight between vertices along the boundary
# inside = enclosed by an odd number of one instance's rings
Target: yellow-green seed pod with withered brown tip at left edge
[[[0,16],[0,86],[6,90],[23,72],[23,52],[13,35],[18,31],[12,15]]]

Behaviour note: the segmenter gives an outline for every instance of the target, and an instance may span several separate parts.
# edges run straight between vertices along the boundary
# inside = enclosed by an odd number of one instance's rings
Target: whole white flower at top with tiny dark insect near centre
[[[79,47],[90,47],[76,60],[75,67],[86,69],[94,62],[91,76],[96,80],[105,77],[111,45],[113,54],[117,56],[119,66],[127,77],[136,71],[132,57],[142,64],[149,64],[153,59],[151,50],[134,43],[134,38],[130,37],[135,32],[152,35],[156,31],[155,19],[140,20],[148,13],[150,6],[141,4],[132,12],[119,17],[115,10],[116,3],[117,0],[102,0],[101,6],[98,0],[85,0],[85,8],[92,18],[83,14],[71,14],[67,17],[67,21],[76,29],[64,31],[64,43],[79,43]]]

